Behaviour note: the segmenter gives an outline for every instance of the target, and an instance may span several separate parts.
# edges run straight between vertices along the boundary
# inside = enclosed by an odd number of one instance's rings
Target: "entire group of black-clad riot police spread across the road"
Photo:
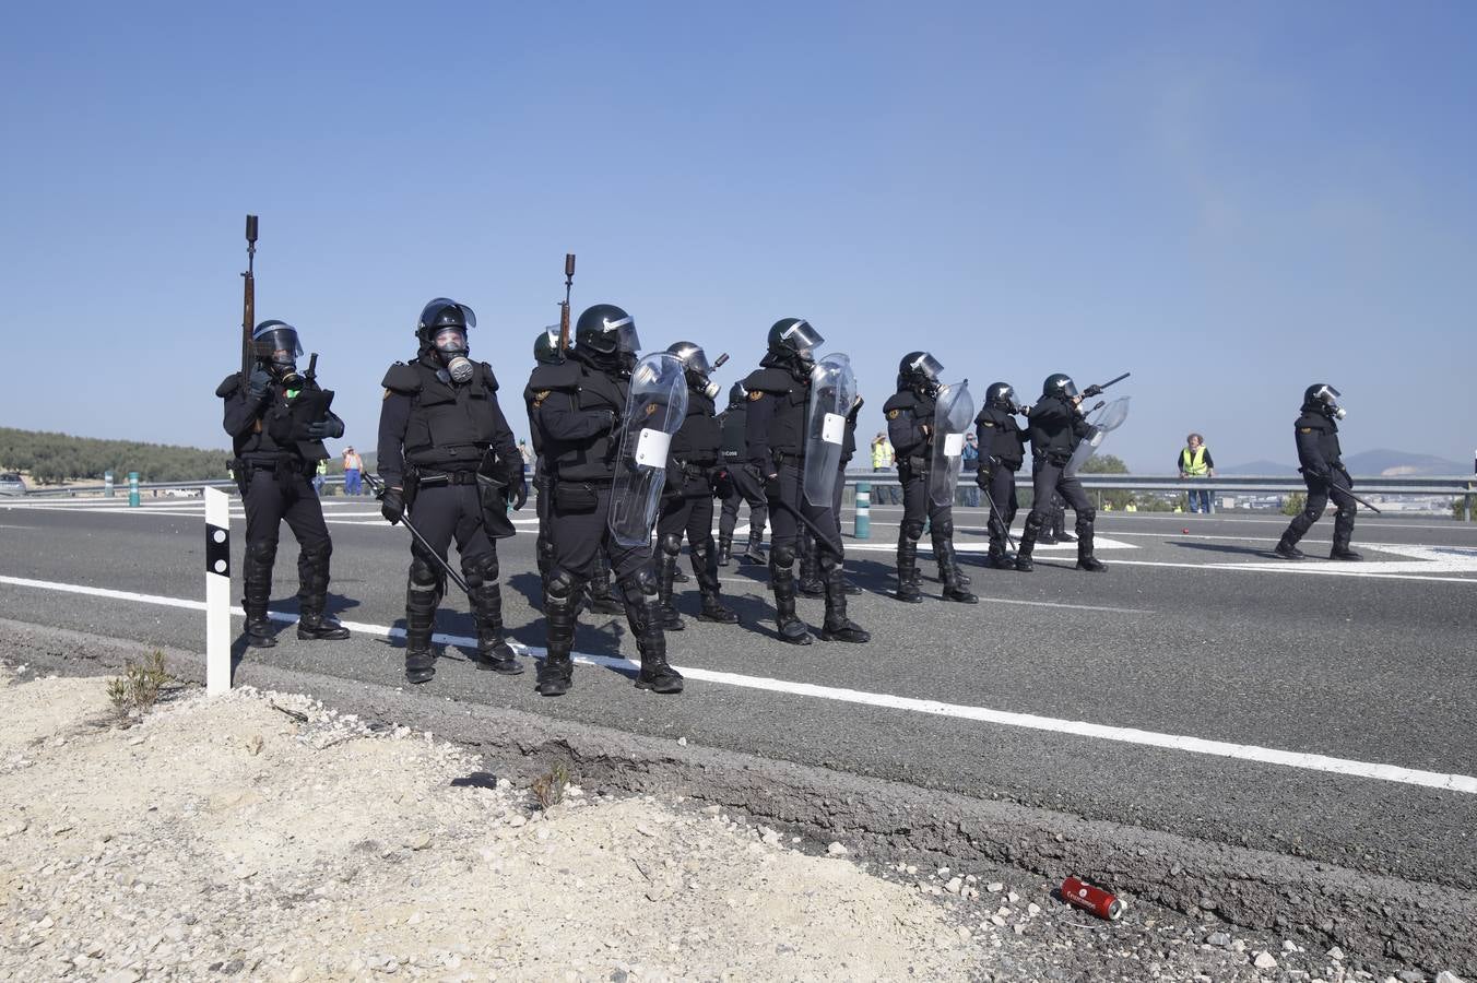
[[[448,579],[471,602],[476,664],[504,675],[523,672],[504,633],[496,540],[514,534],[508,509],[521,509],[527,500],[524,461],[499,406],[492,366],[470,359],[468,335],[476,325],[467,304],[430,301],[417,322],[415,356],[384,376],[378,480],[371,481],[385,520],[412,531],[405,599],[405,675],[412,683],[436,673],[431,629]],[[323,440],[341,437],[344,424],[312,366],[298,372],[303,347],[291,325],[261,322],[251,342],[248,370],[232,373],[217,390],[245,502],[245,641],[276,644],[267,601],[284,520],[300,545],[298,638],[344,639],[349,630],[323,611],[332,540],[310,484],[316,463],[328,458]],[[870,639],[846,613],[846,598],[858,589],[843,573],[839,521],[863,400],[846,356],[817,359],[821,344],[820,332],[803,319],[775,322],[759,368],[730,388],[728,407],[719,412],[721,388],[712,375],[724,359],[710,363],[690,341],[640,357],[635,320],[614,304],[583,311],[573,344],[567,329],[564,337],[555,329],[539,332],[536,365],[523,391],[536,455],[536,553],[548,649],[538,692],[555,697],[573,685],[575,624],[583,608],[625,613],[641,652],[638,688],[681,692],[682,676],[666,658],[666,636],[684,627],[672,604],[682,539],[702,596],[699,620],[736,624],[738,617],[722,601],[718,568],[733,555],[743,503],[750,509],[743,556],[768,562],[778,636],[792,645],[817,638]],[[1090,410],[1102,403],[1086,409],[1083,403],[1111,382],[1078,393],[1071,378],[1053,373],[1034,406],[1021,404],[1009,384],[995,382],[976,415],[967,387],[944,384],[942,370],[926,351],[907,354],[898,366],[897,393],[883,406],[904,508],[894,596],[923,601],[917,545],[926,525],[944,601],[978,601],[953,543],[954,487],[970,427],[979,443],[975,480],[990,505],[987,562],[1029,571],[1035,543],[1050,530],[1056,503],[1065,500],[1077,517],[1077,568],[1103,571],[1093,548],[1094,511],[1077,469],[1114,425],[1100,415],[1089,422]],[[1309,496],[1276,545],[1286,559],[1303,558],[1297,542],[1329,497],[1338,509],[1332,558],[1359,559],[1350,549],[1356,505],[1340,459],[1337,421],[1344,410],[1337,397],[1337,390],[1322,384],[1304,394],[1295,438]],[[1025,463],[1027,443],[1034,499],[1016,543],[1010,537],[1015,475]],[[722,500],[716,543],[715,497]],[[767,518],[772,539],[765,558]],[[459,573],[448,562],[453,540]],[[799,615],[798,595],[824,598],[818,632]]]

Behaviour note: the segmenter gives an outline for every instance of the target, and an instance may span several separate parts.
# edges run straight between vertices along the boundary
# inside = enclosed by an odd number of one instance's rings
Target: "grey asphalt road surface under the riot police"
[[[403,624],[405,530],[385,525],[368,499],[329,499],[328,514],[331,610],[357,624]],[[1362,514],[1356,546],[1366,562],[1285,564],[1269,552],[1285,517],[1102,514],[1106,574],[1074,571],[1075,548],[1043,548],[1034,574],[969,567],[981,604],[966,607],[939,601],[929,580],[922,605],[882,593],[898,518],[897,508],[874,508],[871,537],[846,543],[848,568],[868,589],[851,599],[851,614],[871,630],[870,645],[780,642],[764,570],[730,567],[724,590],[743,624],[688,617],[687,630],[669,638],[672,661],[690,675],[679,697],[640,692],[629,669],[595,664],[576,670],[570,695],[544,700],[533,692],[532,661],[530,672],[507,679],[477,672],[455,648],[417,694],[685,737],[908,782],[919,796],[942,788],[1000,797],[1421,881],[1473,883],[1477,524]],[[960,545],[982,555],[982,515],[960,509],[956,524]],[[59,584],[202,599],[202,525],[198,500],[139,509],[121,499],[0,502],[0,613],[137,639],[140,651],[198,649],[198,610]],[[239,509],[232,528],[239,558]],[[529,534],[499,549],[505,617],[517,641],[538,648],[532,524],[520,528]],[[1304,540],[1310,556],[1326,556],[1329,531],[1331,517]],[[295,546],[284,537],[273,608],[291,613]],[[931,561],[923,570],[932,577]],[[691,584],[679,607],[696,614]],[[821,610],[802,601],[812,624]],[[437,630],[473,635],[465,598],[448,599]],[[635,658],[623,618],[585,615],[576,649]],[[276,648],[245,657],[388,685],[402,679],[399,641],[368,630],[337,644],[300,642],[285,630]],[[1236,747],[1201,753],[1207,741]],[[1326,759],[1357,768],[1337,773],[1346,766]],[[1455,778],[1446,788],[1418,784],[1440,776]]]

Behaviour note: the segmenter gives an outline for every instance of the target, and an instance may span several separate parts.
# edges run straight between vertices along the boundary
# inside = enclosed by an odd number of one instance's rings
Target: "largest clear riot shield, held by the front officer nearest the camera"
[[[687,415],[682,362],[665,351],[637,362],[622,418],[620,453],[610,490],[611,536],[622,546],[647,546],[666,484],[666,449]]]

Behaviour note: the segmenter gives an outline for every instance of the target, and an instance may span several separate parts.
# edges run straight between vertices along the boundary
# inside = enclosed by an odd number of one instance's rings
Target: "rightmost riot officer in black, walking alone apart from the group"
[[[1316,382],[1303,393],[1303,415],[1292,424],[1292,435],[1297,440],[1298,471],[1303,472],[1303,484],[1307,486],[1307,505],[1292,517],[1282,539],[1278,540],[1276,553],[1284,559],[1306,556],[1297,543],[1323,515],[1329,497],[1338,511],[1334,514],[1334,549],[1328,558],[1363,559],[1349,546],[1349,540],[1354,536],[1354,515],[1359,506],[1349,494],[1354,481],[1344,468],[1343,452],[1338,447],[1338,421],[1347,415],[1338,404],[1338,390],[1326,382]]]

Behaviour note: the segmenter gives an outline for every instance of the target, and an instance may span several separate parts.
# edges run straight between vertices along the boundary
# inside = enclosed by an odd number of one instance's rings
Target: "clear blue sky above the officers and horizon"
[[[846,351],[976,391],[1124,370],[1105,450],[1467,461],[1477,6],[1464,3],[22,4],[0,35],[0,425],[226,446],[242,215],[258,317],[297,325],[374,446],[434,295],[520,393],[557,316],[756,365]]]

